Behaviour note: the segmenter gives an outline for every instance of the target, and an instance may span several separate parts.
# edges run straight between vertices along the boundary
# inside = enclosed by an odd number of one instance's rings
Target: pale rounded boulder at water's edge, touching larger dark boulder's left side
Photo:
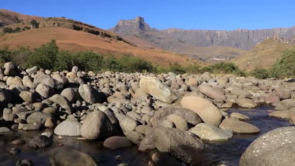
[[[76,120],[65,120],[54,129],[56,135],[81,136],[82,123]]]

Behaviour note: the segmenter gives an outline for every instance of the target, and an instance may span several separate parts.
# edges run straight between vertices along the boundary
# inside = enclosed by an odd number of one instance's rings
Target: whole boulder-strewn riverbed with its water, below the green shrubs
[[[52,72],[6,63],[0,164],[290,165],[294,90],[292,80],[208,72]]]

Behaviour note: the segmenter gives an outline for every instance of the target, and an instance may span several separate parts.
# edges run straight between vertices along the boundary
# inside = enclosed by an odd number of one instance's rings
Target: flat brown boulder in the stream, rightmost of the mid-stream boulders
[[[233,117],[224,119],[220,123],[219,128],[232,130],[234,133],[241,134],[255,134],[260,132],[260,129],[258,129],[256,126],[237,120]]]

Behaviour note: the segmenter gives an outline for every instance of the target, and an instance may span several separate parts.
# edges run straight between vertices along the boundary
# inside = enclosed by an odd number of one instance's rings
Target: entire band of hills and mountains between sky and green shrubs
[[[30,29],[31,20],[38,23]],[[4,30],[18,30],[4,33]],[[14,31],[16,32],[16,31]],[[30,48],[55,39],[63,50],[93,50],[115,56],[131,55],[152,63],[200,66],[230,61],[245,70],[268,68],[283,50],[294,48],[295,27],[263,30],[183,30],[151,28],[143,17],[119,20],[103,30],[65,17],[38,17],[0,10],[0,46]]]

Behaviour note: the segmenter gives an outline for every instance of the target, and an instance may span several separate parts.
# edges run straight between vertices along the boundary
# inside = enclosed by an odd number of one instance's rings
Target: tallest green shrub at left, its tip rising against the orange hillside
[[[55,40],[51,40],[51,42],[43,44],[39,48],[33,50],[28,57],[26,66],[39,66],[44,69],[52,70],[57,53],[58,47],[56,46],[56,42]]]

